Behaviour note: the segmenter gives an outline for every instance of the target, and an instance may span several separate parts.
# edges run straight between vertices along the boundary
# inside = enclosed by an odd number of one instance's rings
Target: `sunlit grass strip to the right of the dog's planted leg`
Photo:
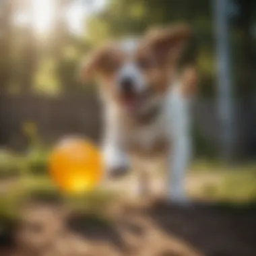
[[[190,191],[196,197],[214,201],[256,200],[256,164],[247,163],[232,168],[221,163],[199,161],[191,170],[198,186]]]

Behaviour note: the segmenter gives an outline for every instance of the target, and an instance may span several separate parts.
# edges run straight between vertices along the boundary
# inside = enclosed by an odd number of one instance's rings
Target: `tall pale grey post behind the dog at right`
[[[213,0],[216,32],[217,106],[220,120],[220,139],[224,160],[234,154],[234,105],[230,75],[230,46],[228,26],[228,0]]]

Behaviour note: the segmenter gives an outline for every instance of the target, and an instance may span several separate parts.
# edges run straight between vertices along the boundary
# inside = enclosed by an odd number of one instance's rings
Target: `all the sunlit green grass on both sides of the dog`
[[[22,202],[40,200],[65,203],[79,211],[100,212],[115,196],[97,190],[80,196],[61,194],[47,175],[49,150],[30,150],[23,156],[0,152],[1,183],[11,177],[15,184],[0,193],[0,215],[17,218]],[[214,201],[256,200],[256,163],[228,167],[221,162],[197,160],[188,174],[188,192],[193,197]]]

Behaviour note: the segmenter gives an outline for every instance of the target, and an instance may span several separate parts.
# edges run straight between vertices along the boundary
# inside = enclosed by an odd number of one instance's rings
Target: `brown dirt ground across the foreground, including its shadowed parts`
[[[31,203],[1,256],[255,256],[256,207],[121,203],[110,220]]]

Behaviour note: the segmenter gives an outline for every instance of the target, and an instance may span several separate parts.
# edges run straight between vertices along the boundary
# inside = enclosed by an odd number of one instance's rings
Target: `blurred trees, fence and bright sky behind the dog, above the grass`
[[[24,150],[26,123],[45,143],[67,133],[97,140],[96,86],[79,83],[82,59],[109,38],[187,22],[195,38],[185,57],[199,69],[198,155],[253,159],[256,7],[253,1],[223,2],[2,0],[1,146]]]

